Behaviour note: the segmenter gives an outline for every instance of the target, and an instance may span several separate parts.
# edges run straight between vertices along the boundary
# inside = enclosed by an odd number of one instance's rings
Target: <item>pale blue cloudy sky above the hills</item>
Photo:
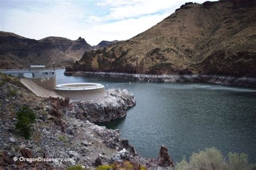
[[[189,0],[0,0],[0,30],[42,39],[125,40],[151,28]],[[206,0],[195,0],[203,3]]]

